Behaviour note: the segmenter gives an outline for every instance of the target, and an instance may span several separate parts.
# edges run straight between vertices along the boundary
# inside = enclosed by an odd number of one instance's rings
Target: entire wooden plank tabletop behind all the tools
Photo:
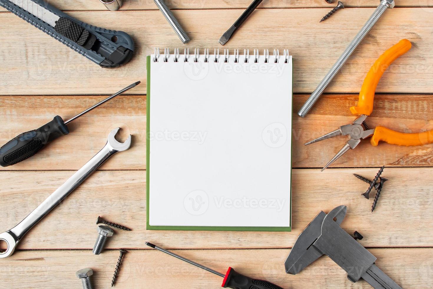
[[[152,0],[125,0],[123,11],[117,12],[105,10],[97,0],[52,0],[50,3],[80,20],[126,31],[134,38],[134,58],[115,70],[99,68],[6,10],[0,11],[0,143],[56,114],[68,119],[103,98],[99,94],[109,95],[142,81],[126,95],[71,123],[71,133],[51,143],[49,149],[16,166],[0,168],[2,232],[21,221],[94,156],[111,129],[122,127],[123,139],[133,134],[131,149],[113,156],[34,227],[12,257],[0,260],[0,288],[80,288],[75,271],[84,267],[94,269],[95,287],[109,288],[117,248],[130,250],[118,288],[220,288],[219,277],[148,250],[146,240],[221,272],[233,266],[284,288],[371,288],[364,281],[349,282],[328,257],[296,276],[284,273],[284,260],[298,234],[320,210],[328,212],[337,205],[348,206],[342,227],[364,235],[360,243],[378,257],[379,268],[403,288],[432,288],[433,146],[382,143],[372,147],[365,141],[332,169],[320,172],[343,146],[344,138],[303,145],[353,120],[349,107],[357,101],[366,72],[385,49],[403,38],[413,48],[391,65],[379,83],[368,124],[402,132],[433,129],[430,0],[397,0],[398,8],[385,13],[311,114],[305,119],[294,115],[292,232],[145,230],[146,55],[155,47],[189,48],[190,52],[194,47],[289,49],[294,55],[296,113],[378,5],[377,0],[350,1],[345,3],[347,9],[319,24],[335,3],[265,0],[233,39],[220,46],[217,41],[222,33],[250,2],[167,1],[192,39],[181,45]],[[366,185],[352,173],[372,177],[382,165],[387,166],[384,176],[390,180],[371,214],[372,200],[360,196]],[[107,251],[94,256],[91,248],[98,215],[133,231],[116,231]]]

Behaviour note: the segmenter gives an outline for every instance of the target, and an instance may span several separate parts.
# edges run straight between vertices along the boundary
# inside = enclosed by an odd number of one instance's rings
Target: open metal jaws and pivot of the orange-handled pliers
[[[330,133],[326,133],[325,135],[320,136],[315,140],[305,143],[305,145],[307,146],[311,143],[317,143],[322,140],[333,138],[335,136],[349,136],[349,140],[346,142],[343,148],[340,149],[339,152],[330,160],[330,162],[328,162],[326,166],[323,167],[322,172],[333,162],[335,162],[337,159],[347,153],[349,149],[354,149],[356,146],[358,146],[361,140],[370,137],[375,133],[375,129],[369,129],[367,123],[365,123],[365,119],[367,117],[367,115],[361,114],[352,123],[345,124]]]

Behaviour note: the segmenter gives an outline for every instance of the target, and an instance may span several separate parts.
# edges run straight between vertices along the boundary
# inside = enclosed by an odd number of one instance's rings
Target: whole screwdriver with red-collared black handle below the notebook
[[[159,250],[161,252],[167,253],[168,255],[171,255],[173,257],[176,257],[182,261],[185,261],[187,263],[190,263],[191,265],[197,266],[201,269],[204,269],[210,273],[213,273],[215,275],[218,275],[220,277],[223,277],[223,285],[221,287],[223,288],[233,288],[233,289],[283,289],[280,286],[277,286],[271,282],[268,282],[266,280],[261,279],[253,279],[248,276],[242,275],[240,273],[237,273],[232,267],[229,267],[229,270],[227,270],[226,275],[223,273],[217,272],[215,270],[212,270],[206,266],[200,265],[199,263],[196,263],[194,261],[191,261],[187,258],[184,258],[182,256],[179,256],[178,254],[175,254],[173,252],[170,252],[168,250],[165,250],[161,247],[158,247],[152,243],[145,242],[145,244],[149,247],[152,247],[156,250]]]

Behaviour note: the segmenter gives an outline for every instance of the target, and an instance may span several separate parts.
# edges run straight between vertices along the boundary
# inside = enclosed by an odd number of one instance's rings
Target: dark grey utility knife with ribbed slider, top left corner
[[[127,33],[81,22],[46,0],[0,0],[0,6],[101,67],[119,67],[129,62],[134,52],[134,42]]]

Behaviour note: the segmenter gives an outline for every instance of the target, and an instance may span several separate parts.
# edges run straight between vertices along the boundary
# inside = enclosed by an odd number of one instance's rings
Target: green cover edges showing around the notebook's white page
[[[146,229],[147,230],[177,230],[177,231],[291,231],[291,213],[292,213],[292,190],[290,190],[290,216],[288,221],[290,226],[288,227],[218,227],[218,226],[151,226],[149,224],[149,172],[150,172],[150,79],[151,79],[151,56],[148,55],[146,59],[147,67],[147,92],[146,92]],[[293,69],[293,68],[292,68]],[[292,92],[292,103],[293,103],[293,92]],[[291,114],[291,111],[288,111]],[[293,144],[293,140],[292,140]],[[292,146],[293,147],[293,146]],[[293,155],[293,151],[291,152]],[[292,167],[292,166],[291,166]],[[292,174],[291,174],[292,178]],[[290,187],[292,186],[292,179],[290,181]]]

